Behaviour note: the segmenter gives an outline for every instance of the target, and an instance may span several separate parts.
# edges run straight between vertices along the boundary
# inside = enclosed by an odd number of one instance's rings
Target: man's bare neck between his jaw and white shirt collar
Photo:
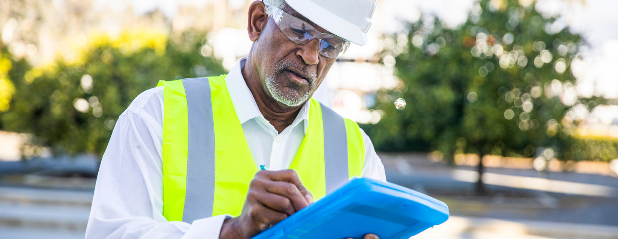
[[[240,72],[242,72],[242,77],[247,83],[249,91],[251,91],[253,99],[258,104],[258,109],[260,109],[264,118],[273,125],[278,133],[283,132],[284,129],[294,122],[302,104],[286,106],[268,96],[260,80],[257,67],[253,65],[250,57],[247,58],[244,64],[241,63]]]

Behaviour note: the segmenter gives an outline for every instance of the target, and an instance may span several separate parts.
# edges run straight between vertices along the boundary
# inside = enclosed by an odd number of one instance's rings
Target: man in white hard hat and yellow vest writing
[[[350,177],[386,180],[358,125],[310,98],[376,1],[286,2],[253,2],[227,76],[161,82],[121,114],[86,238],[250,238]]]

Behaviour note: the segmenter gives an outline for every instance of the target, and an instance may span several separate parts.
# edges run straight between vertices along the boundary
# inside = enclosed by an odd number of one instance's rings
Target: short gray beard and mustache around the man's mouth
[[[294,67],[295,69],[303,69],[303,67],[298,64],[284,60],[277,62],[277,67],[274,72],[281,72],[288,67]],[[309,75],[309,78],[307,79],[307,82],[309,83],[309,90],[303,93],[302,96],[297,97],[294,93],[284,92],[281,90],[281,85],[279,84],[279,82],[277,82],[277,78],[274,76],[275,73],[265,75],[266,88],[276,101],[279,101],[286,106],[298,106],[303,102],[307,101],[307,99],[309,99],[309,96],[311,96],[311,91],[313,90],[315,82],[318,78],[318,73],[316,72],[305,72]]]

